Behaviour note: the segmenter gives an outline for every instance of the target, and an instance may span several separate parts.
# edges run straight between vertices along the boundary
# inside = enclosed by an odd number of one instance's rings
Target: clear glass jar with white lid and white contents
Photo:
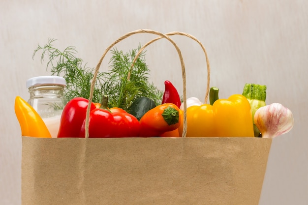
[[[51,136],[58,136],[64,97],[65,79],[59,76],[38,76],[27,80],[28,103],[44,120]]]

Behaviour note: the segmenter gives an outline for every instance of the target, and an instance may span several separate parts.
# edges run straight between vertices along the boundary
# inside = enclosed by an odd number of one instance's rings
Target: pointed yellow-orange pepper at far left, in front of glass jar
[[[22,136],[51,138],[50,132],[38,113],[24,99],[15,98],[15,114]]]

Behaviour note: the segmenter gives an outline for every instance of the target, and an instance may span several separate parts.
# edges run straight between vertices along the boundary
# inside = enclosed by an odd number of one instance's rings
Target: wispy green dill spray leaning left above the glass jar
[[[55,48],[53,42],[55,39],[48,39],[48,43],[34,50],[32,58],[38,51],[42,51],[41,62],[45,56],[48,56],[46,70],[50,68],[51,75],[62,76],[66,81],[65,98],[67,101],[74,97],[84,97],[89,99],[91,80],[93,78],[93,68],[82,65],[82,59],[77,58],[75,47],[69,46],[63,51]],[[97,82],[93,92],[93,102],[101,101],[102,75],[97,75]]]

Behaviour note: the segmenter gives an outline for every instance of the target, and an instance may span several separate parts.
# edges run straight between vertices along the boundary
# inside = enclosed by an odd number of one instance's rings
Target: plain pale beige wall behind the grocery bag
[[[183,31],[206,47],[211,86],[220,97],[241,93],[245,83],[267,85],[267,104],[294,114],[293,130],[273,141],[260,205],[308,204],[308,1],[307,0],[1,0],[0,1],[0,204],[21,203],[21,137],[16,95],[28,98],[26,80],[46,75],[37,44],[75,46],[94,67],[104,49],[135,29]],[[128,51],[154,38],[138,34],[117,47]],[[187,95],[204,98],[205,59],[190,39],[174,37],[183,51]],[[161,40],[147,49],[152,80],[181,86],[175,49]],[[108,61],[108,60],[106,60]],[[107,69],[104,66],[101,69]]]

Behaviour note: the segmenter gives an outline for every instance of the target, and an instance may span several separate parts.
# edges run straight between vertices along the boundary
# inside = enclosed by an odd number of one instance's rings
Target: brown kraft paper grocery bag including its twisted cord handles
[[[154,30],[127,33],[108,47],[97,64],[89,104],[102,59],[118,42],[136,33],[153,33],[176,48],[169,37],[185,35],[205,53],[209,93],[210,66],[204,46],[183,32]],[[90,107],[89,107],[90,108]],[[271,139],[248,137],[109,138],[22,137],[22,205],[258,205]]]

